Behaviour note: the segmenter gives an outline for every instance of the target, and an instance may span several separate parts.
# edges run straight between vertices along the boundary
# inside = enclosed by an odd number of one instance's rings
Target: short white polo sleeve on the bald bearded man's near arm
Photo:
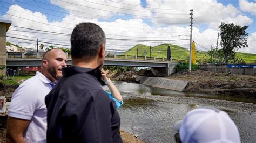
[[[31,120],[37,108],[37,96],[35,85],[21,84],[11,97],[8,116]]]

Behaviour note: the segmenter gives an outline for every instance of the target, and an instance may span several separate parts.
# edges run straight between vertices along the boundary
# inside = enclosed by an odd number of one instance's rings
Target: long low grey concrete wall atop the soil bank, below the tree
[[[244,75],[256,75],[255,68],[227,68],[226,65],[199,65],[199,68],[215,73],[232,73]]]

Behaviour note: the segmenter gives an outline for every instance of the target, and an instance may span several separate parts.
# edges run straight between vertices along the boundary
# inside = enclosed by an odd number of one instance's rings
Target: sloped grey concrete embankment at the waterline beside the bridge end
[[[140,84],[151,87],[164,88],[170,90],[183,91],[190,81],[172,80],[160,77],[132,76]]]

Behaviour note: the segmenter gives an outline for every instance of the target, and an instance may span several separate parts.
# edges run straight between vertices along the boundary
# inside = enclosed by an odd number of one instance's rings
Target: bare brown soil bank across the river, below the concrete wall
[[[256,76],[196,70],[191,73],[179,72],[164,78],[193,81],[187,85],[185,91],[256,98]]]

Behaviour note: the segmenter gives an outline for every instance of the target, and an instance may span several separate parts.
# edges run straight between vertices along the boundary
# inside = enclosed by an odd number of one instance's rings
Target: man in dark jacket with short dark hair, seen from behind
[[[122,142],[120,117],[100,85],[105,33],[93,23],[71,35],[72,66],[45,97],[48,142]]]

